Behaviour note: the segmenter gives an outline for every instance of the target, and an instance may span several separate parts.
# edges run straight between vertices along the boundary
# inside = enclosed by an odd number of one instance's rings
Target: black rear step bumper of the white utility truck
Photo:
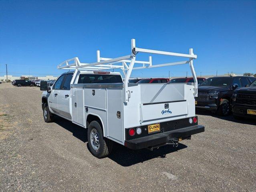
[[[204,132],[204,126],[195,125],[155,135],[125,141],[125,146],[130,149],[142,149],[150,146],[166,144],[172,138],[187,138],[191,135]]]

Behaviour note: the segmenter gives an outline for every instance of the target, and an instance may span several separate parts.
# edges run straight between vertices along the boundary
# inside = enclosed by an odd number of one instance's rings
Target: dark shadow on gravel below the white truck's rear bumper
[[[153,151],[148,149],[131,150],[121,144],[115,143],[113,151],[108,158],[121,166],[127,167],[137,163],[143,163],[153,158],[165,158],[166,154],[176,152],[184,148],[187,148],[187,146],[180,143],[178,147],[165,145],[155,148]]]

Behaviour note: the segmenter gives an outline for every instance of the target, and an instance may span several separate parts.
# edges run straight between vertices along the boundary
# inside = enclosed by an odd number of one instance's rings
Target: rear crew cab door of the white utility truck
[[[58,93],[58,111],[60,115],[71,119],[69,100],[71,97],[70,82],[73,74],[66,74]]]

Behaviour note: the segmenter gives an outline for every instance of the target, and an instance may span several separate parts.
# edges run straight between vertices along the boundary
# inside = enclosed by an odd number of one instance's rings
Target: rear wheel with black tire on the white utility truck
[[[98,138],[98,139],[95,139],[95,138]],[[89,149],[91,151],[91,154],[93,154],[93,156],[97,158],[104,158],[111,153],[113,148],[113,142],[103,137],[103,131],[101,128],[101,124],[99,124],[99,122],[92,121],[89,124],[87,139],[88,139]],[[97,142],[99,144],[97,144]]]

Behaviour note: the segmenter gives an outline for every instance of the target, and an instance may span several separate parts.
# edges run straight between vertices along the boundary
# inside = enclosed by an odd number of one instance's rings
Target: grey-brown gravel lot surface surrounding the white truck
[[[40,96],[0,84],[0,191],[256,191],[255,122],[200,112],[206,131],[178,148],[116,145],[97,159],[86,129],[44,122]]]

